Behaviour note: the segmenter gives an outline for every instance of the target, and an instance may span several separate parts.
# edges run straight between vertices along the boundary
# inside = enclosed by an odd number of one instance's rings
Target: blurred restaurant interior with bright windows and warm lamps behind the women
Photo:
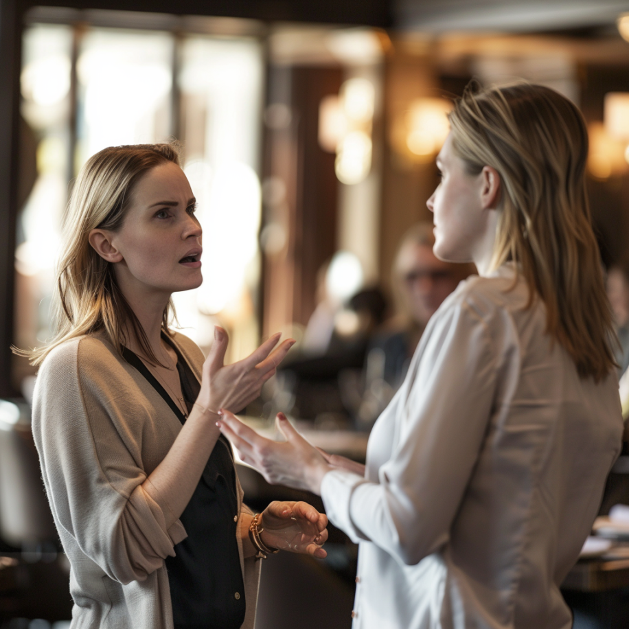
[[[400,383],[378,339],[417,332],[400,243],[432,220],[435,155],[470,80],[524,79],[580,107],[602,264],[629,270],[629,1],[2,0],[0,58],[0,629],[69,627],[69,565],[30,433],[36,369],[11,347],[52,334],[68,195],[98,150],[181,143],[205,253],[203,285],[174,296],[179,328],[207,353],[221,325],[230,362],[274,332],[296,339],[242,416],[274,435],[282,411],[358,461]],[[620,285],[629,295],[629,273]],[[629,505],[626,461],[599,524]],[[323,508],[238,474],[255,509]],[[577,629],[627,626],[624,525],[564,582]],[[257,629],[350,627],[356,546],[331,526],[327,547],[325,560],[265,562]]]

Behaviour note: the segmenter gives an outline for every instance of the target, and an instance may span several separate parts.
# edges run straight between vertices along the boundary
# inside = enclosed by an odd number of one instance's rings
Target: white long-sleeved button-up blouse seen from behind
[[[617,378],[580,379],[513,274],[461,282],[371,432],[365,478],[323,479],[360,545],[354,629],[571,627],[559,586],[621,448]]]

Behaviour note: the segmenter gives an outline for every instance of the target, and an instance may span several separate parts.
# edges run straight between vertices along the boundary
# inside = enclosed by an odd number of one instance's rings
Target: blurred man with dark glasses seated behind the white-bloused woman
[[[442,262],[433,253],[433,244],[432,222],[418,222],[404,234],[392,269],[398,315],[371,343],[370,351],[384,352],[380,377],[394,389],[404,380],[428,319],[461,279],[476,270],[472,263]]]

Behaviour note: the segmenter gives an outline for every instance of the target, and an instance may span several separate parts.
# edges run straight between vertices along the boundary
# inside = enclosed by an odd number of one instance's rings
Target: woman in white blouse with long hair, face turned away
[[[223,433],[273,483],[321,494],[360,545],[354,627],[568,629],[560,584],[621,447],[582,115],[546,87],[470,88],[428,200],[435,254],[473,261],[426,327],[367,464],[285,418]]]

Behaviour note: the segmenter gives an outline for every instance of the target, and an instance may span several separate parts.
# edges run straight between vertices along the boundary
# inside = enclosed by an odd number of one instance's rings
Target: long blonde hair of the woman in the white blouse
[[[547,332],[582,378],[614,367],[614,338],[599,249],[586,196],[588,135],[577,107],[527,83],[471,84],[450,113],[453,148],[470,174],[485,165],[501,179],[492,269],[516,263],[529,306],[546,306]]]

